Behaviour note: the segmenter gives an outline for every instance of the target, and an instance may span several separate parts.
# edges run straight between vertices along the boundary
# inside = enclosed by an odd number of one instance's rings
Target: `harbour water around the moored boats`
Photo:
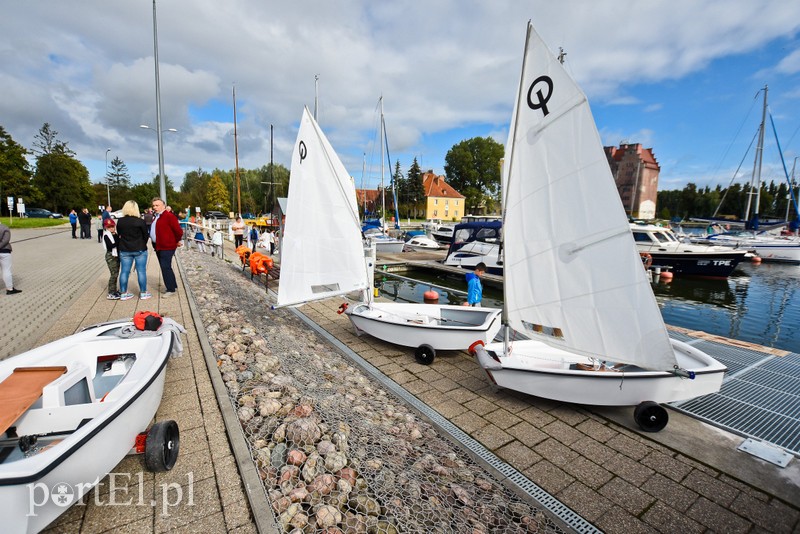
[[[463,276],[409,271],[399,280],[376,273],[384,297],[422,302],[434,286],[441,304],[466,300]],[[800,353],[800,266],[742,264],[728,280],[675,278],[653,284],[664,322]],[[503,294],[486,287],[483,305],[501,307]]]

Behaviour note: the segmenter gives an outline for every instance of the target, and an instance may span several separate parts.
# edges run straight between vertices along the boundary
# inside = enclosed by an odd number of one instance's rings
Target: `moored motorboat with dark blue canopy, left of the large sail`
[[[498,220],[457,224],[444,265],[475,270],[479,263],[484,263],[487,273],[502,276],[502,228],[503,223]]]

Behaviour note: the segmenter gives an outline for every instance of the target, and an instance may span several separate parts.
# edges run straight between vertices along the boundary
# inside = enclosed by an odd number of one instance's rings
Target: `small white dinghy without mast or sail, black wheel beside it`
[[[140,434],[161,403],[183,327],[165,319],[89,327],[0,362],[0,513],[4,532],[38,532],[138,445],[155,471],[178,455],[174,421]],[[137,440],[137,436],[139,440]]]

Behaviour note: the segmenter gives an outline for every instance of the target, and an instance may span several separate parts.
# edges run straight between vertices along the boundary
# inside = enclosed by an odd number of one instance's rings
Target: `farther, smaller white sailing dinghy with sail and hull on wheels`
[[[416,347],[425,364],[437,350],[494,339],[500,330],[494,308],[372,301],[375,252],[362,244],[355,185],[307,109],[291,173],[277,306],[362,292],[362,302],[347,309],[358,333]]]

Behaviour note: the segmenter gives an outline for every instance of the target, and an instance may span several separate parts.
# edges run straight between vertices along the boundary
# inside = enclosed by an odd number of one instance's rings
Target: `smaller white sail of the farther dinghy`
[[[368,288],[355,185],[307,108],[292,153],[281,246],[278,306]]]

